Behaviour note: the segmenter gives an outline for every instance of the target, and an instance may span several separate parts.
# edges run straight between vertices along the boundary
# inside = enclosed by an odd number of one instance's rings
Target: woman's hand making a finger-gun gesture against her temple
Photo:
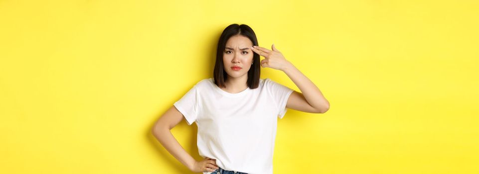
[[[261,67],[269,67],[284,71],[284,69],[290,66],[291,63],[286,60],[278,49],[276,49],[275,44],[271,45],[271,49],[272,50],[268,50],[259,46],[253,46],[253,48],[251,48],[255,53],[265,57],[265,59],[261,61]]]

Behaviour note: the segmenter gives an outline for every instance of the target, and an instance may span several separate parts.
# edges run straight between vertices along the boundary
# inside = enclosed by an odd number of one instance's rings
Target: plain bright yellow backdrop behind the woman
[[[191,173],[150,130],[244,23],[331,104],[279,120],[275,174],[477,174],[478,18],[477,0],[0,0],[0,173]],[[199,161],[196,128],[172,133]]]

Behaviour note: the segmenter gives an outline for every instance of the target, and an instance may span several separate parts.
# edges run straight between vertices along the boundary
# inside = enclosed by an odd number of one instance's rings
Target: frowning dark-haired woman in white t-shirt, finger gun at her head
[[[248,25],[229,25],[218,42],[213,78],[196,83],[155,123],[155,137],[192,172],[272,174],[277,116],[283,118],[287,108],[310,113],[329,109],[319,88],[274,44],[271,48],[258,47]],[[265,57],[261,62],[260,56]],[[302,93],[260,79],[260,66],[285,72]],[[199,162],[170,132],[183,118],[198,126],[197,146],[204,158]]]

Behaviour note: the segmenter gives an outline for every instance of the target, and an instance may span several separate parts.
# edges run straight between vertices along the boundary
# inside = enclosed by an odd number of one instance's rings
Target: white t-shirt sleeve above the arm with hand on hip
[[[189,89],[178,101],[174,102],[173,105],[183,114],[188,125],[193,124],[198,117],[198,90],[196,85]]]

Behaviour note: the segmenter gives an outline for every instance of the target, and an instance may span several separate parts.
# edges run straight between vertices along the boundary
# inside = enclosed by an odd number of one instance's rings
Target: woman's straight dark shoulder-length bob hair
[[[226,71],[224,71],[224,65],[223,65],[223,51],[226,47],[226,42],[231,36],[235,35],[242,35],[251,40],[253,45],[258,46],[258,39],[256,39],[256,34],[249,27],[248,25],[245,24],[231,24],[227,26],[224,30],[223,33],[221,33],[221,36],[219,37],[218,41],[218,48],[216,50],[216,62],[214,64],[214,70],[213,70],[213,79],[214,83],[218,87],[226,87],[225,82],[226,79],[228,78],[228,75]],[[260,81],[260,55],[257,53],[253,52],[253,65],[251,65],[250,70],[248,71],[248,81],[247,85],[249,88],[254,89],[259,86],[259,81]]]

